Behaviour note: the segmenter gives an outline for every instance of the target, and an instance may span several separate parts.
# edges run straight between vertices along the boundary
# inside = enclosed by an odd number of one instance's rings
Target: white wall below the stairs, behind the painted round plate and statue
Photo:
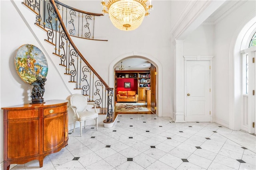
[[[17,1],[16,1],[17,2]],[[22,1],[20,3],[21,5]],[[16,50],[24,44],[32,44],[41,49],[42,47],[36,41],[28,26],[24,23],[18,12],[15,10],[10,1],[0,1],[1,12],[1,51],[0,51],[0,107],[15,106],[19,104],[26,104],[31,102],[31,90],[33,86],[23,82],[18,76],[14,66],[14,55]],[[24,6],[22,6],[27,10]],[[10,15],[11,12],[11,15]],[[34,25],[35,16],[31,12],[27,12],[31,16],[32,25]],[[7,15],[8,14],[8,15]],[[18,29],[17,29],[18,27]],[[34,26],[38,35],[45,34],[39,28]],[[43,53],[46,55],[43,51]],[[56,69],[48,61],[48,75],[45,85],[44,100],[66,99],[70,95],[62,84],[60,76],[58,76]],[[3,111],[0,111],[0,162],[3,162]]]

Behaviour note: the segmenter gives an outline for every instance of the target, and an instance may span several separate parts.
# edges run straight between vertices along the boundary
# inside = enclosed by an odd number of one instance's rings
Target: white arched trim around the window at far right
[[[251,18],[251,19],[250,19]],[[232,130],[241,129],[241,56],[240,50],[242,48],[243,40],[248,29],[256,23],[255,12],[252,12],[247,18],[240,23],[240,27],[236,29],[232,41],[230,43],[229,55],[229,77],[230,77],[230,102],[229,102],[229,128]],[[244,40],[246,41],[246,40]]]

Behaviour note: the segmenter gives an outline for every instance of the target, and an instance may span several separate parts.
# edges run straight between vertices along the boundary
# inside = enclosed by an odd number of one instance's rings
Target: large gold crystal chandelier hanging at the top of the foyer
[[[113,25],[124,31],[132,31],[140,26],[148,10],[153,9],[151,0],[109,0],[101,2],[102,13],[109,14]]]

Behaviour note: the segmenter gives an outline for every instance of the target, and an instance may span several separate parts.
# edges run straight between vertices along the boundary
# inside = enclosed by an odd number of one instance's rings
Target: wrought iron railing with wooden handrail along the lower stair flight
[[[69,82],[75,83],[74,89],[81,90],[83,95],[88,96],[88,102],[94,102],[100,113],[107,114],[104,122],[113,122],[113,88],[106,84],[74,45],[59,13],[60,6],[54,0],[24,0],[22,3],[36,14],[35,24],[46,31],[45,41],[54,45],[52,54],[60,58],[59,65],[64,66],[64,74],[70,76]]]

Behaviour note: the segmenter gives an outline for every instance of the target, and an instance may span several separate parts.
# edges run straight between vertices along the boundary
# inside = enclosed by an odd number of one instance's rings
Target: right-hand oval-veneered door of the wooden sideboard
[[[44,118],[44,152],[58,148],[64,142],[64,114]]]

